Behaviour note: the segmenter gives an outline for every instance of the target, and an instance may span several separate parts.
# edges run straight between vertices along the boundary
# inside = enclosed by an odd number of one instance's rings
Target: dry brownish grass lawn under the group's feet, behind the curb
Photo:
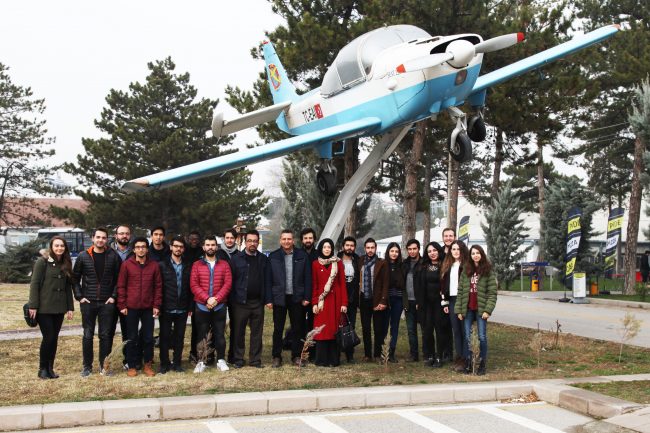
[[[534,338],[535,331],[495,323],[488,326],[489,358],[486,376],[457,374],[450,371],[448,367],[435,370],[425,367],[422,363],[404,361],[408,354],[404,321],[401,323],[397,347],[400,362],[390,364],[387,369],[383,365],[363,363],[353,365],[343,363],[339,368],[319,368],[310,365],[303,369],[285,364],[282,368],[272,369],[270,364],[273,325],[272,315],[268,311],[265,319],[263,362],[266,367],[261,370],[246,367],[222,373],[210,368],[203,374],[193,374],[192,366],[184,362],[184,367],[188,370],[184,374],[168,373],[154,378],[139,375],[136,378],[128,378],[120,370],[113,377],[103,377],[96,373],[98,370],[95,361],[95,373],[89,378],[82,379],[79,376],[81,336],[74,336],[62,337],[59,341],[55,368],[61,378],[40,380],[36,377],[40,339],[4,341],[0,346],[0,359],[2,359],[0,384],[4,388],[5,397],[0,405],[224,392],[650,373],[650,350],[625,347],[623,362],[619,364],[617,362],[619,346],[615,343],[561,335],[559,348],[553,348],[553,335],[548,333],[541,335],[541,346],[544,350],[540,352],[538,366],[537,352],[529,347],[531,341],[540,341],[539,338]],[[359,322],[357,322],[357,330],[360,331]],[[186,351],[183,356],[185,359],[189,335],[188,329]],[[358,346],[357,359],[361,359],[362,353],[362,346]],[[97,357],[97,348],[95,348],[95,357]],[[285,362],[288,357],[289,354],[284,352]],[[158,362],[157,349],[155,361]]]

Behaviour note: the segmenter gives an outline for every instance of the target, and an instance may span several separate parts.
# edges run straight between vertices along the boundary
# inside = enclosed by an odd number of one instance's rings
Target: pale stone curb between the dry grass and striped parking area
[[[386,406],[475,403],[516,398],[533,392],[548,403],[595,418],[611,418],[641,406],[573,388],[569,384],[615,380],[650,380],[650,374],[575,380],[377,386],[8,406],[0,407],[0,431]]]

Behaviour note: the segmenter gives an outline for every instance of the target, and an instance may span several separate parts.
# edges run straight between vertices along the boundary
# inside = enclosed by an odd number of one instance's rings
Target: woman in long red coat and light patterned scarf
[[[312,262],[311,275],[314,328],[325,325],[314,337],[316,365],[337,367],[340,350],[336,332],[341,323],[341,313],[348,311],[348,291],[343,262],[334,254],[331,239],[323,239],[318,244],[318,260]]]

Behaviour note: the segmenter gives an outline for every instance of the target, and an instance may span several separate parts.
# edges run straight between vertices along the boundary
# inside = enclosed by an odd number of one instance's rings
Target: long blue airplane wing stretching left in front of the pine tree
[[[167,188],[179,183],[201,179],[216,173],[223,173],[228,170],[244,167],[248,164],[273,159],[307,147],[313,147],[322,143],[338,141],[357,135],[364,135],[380,124],[381,119],[377,117],[366,117],[353,122],[298,135],[263,146],[253,147],[251,149],[229,153],[228,155],[218,156],[213,159],[174,168],[162,173],[156,173],[130,180],[122,185],[122,189],[126,192],[138,192],[150,189]]]

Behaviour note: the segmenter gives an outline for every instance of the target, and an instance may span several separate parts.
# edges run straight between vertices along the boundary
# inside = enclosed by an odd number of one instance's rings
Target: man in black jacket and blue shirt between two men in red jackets
[[[183,260],[185,241],[177,236],[171,242],[171,258],[159,263],[163,282],[162,310],[160,312],[160,373],[170,369],[181,373],[183,344],[187,316],[192,315],[190,272],[192,263]],[[174,363],[169,362],[169,349],[174,350]]]

